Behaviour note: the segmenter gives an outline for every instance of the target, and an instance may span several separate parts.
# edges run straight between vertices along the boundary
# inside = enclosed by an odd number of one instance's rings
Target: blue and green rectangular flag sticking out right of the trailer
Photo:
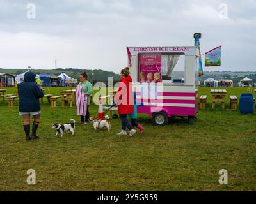
[[[221,65],[221,46],[205,53],[205,66]]]

